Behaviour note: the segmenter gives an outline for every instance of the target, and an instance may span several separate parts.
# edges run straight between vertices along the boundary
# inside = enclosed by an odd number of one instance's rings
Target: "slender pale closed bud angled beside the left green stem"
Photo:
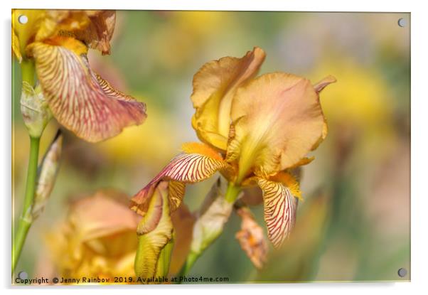
[[[43,212],[46,202],[52,192],[55,178],[60,166],[61,149],[63,146],[63,134],[58,132],[39,167],[34,205],[31,209],[33,218],[36,219]]]

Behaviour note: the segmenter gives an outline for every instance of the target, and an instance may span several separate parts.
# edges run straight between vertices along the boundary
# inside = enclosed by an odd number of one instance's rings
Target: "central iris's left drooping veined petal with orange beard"
[[[144,215],[147,201],[153,194],[156,184],[159,181],[170,181],[168,197],[172,212],[178,208],[183,199],[185,183],[203,181],[227,166],[220,155],[205,144],[187,144],[183,150],[186,152],[178,154],[147,186],[134,195],[131,203],[132,210]]]

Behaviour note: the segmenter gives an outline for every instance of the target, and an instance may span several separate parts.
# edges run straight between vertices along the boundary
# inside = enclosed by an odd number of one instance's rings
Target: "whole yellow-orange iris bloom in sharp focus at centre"
[[[255,77],[264,58],[264,51],[256,47],[242,58],[205,63],[193,77],[191,100],[196,112],[192,126],[203,143],[184,144],[183,153],[132,198],[131,208],[150,220],[141,225],[144,231],[140,235],[160,226],[162,212],[178,208],[187,183],[203,181],[220,171],[229,182],[228,191],[247,186],[262,189],[264,220],[275,247],[289,236],[296,198],[301,198],[299,183],[289,169],[309,163],[306,154],[325,138],[319,92],[336,79],[328,76],[313,85],[287,73]],[[233,203],[237,195],[226,193],[225,198]],[[161,200],[169,207],[162,210]],[[158,253],[171,230],[168,227],[161,235],[164,240],[159,237],[154,242]]]

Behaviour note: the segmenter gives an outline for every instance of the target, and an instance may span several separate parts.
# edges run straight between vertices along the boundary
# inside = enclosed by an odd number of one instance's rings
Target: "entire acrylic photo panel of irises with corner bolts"
[[[410,14],[12,11],[12,284],[410,281]]]

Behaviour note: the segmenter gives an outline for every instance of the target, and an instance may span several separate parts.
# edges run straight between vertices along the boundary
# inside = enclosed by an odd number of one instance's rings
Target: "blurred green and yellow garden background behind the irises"
[[[397,25],[399,18],[407,27]],[[118,11],[112,54],[90,63],[112,85],[146,102],[149,117],[114,139],[88,144],[65,132],[58,181],[28,235],[18,270],[43,268],[43,238],[65,218],[70,200],[99,188],[131,196],[186,141],[192,79],[209,60],[240,57],[255,45],[267,58],[260,73],[284,71],[318,82],[329,134],[301,173],[305,201],[295,234],[257,271],[235,240],[232,214],[223,235],[191,276],[247,281],[397,281],[410,279],[410,14]],[[19,111],[21,74],[14,67],[14,218],[21,212],[29,140]],[[50,122],[41,152],[55,135]],[[215,178],[189,186],[197,210]],[[264,225],[262,205],[252,208]],[[397,270],[409,273],[400,278]]]

